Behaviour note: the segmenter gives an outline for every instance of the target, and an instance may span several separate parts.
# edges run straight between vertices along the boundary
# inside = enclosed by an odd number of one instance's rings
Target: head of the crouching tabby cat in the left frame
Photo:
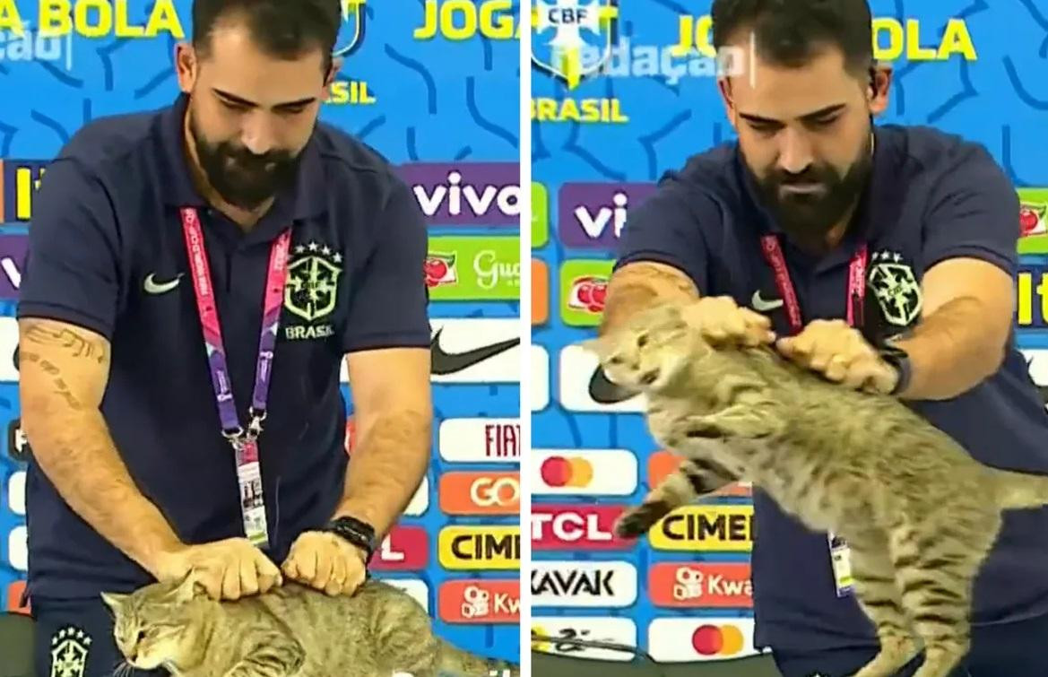
[[[129,595],[102,593],[113,612],[113,638],[125,659],[139,670],[191,668],[203,657],[198,641],[212,604],[187,578],[153,584]]]

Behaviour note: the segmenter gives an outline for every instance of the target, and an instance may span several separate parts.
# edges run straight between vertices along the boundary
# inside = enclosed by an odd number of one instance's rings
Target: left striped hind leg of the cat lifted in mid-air
[[[902,606],[888,536],[869,530],[848,541],[855,599],[877,631],[880,651],[855,677],[890,677],[917,655],[911,619]]]

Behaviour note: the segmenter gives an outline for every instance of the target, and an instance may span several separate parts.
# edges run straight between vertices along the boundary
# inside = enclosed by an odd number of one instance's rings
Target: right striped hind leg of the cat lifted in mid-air
[[[973,582],[1001,523],[997,514],[976,511],[951,520],[903,521],[890,536],[902,604],[924,643],[914,677],[946,677],[967,654]]]

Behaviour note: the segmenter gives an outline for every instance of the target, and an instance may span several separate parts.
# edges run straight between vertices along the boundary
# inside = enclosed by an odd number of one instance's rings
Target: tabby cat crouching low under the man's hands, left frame
[[[191,575],[102,596],[129,663],[175,677],[520,677],[435,636],[414,598],[373,578],[352,596],[286,582],[219,603]]]

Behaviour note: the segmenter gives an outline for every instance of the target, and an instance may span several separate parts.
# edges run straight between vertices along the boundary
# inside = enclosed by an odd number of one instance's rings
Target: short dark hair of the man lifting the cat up
[[[714,0],[711,15],[718,50],[748,29],[761,58],[780,66],[803,66],[828,46],[844,52],[855,75],[875,65],[867,0]]]

